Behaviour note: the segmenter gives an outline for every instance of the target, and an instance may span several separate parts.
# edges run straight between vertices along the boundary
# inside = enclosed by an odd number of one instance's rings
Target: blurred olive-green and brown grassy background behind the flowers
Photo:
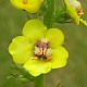
[[[80,0],[87,21],[87,0]],[[57,0],[58,3],[61,0]],[[22,84],[15,78],[8,79],[11,73],[11,55],[8,52],[12,38],[22,35],[22,27],[27,21],[23,11],[12,7],[9,0],[0,0],[0,87],[32,87],[32,84]],[[87,87],[87,27],[80,23],[54,24],[65,35],[64,47],[70,52],[67,65],[53,70],[45,77],[45,87],[55,87],[59,82],[63,87]]]

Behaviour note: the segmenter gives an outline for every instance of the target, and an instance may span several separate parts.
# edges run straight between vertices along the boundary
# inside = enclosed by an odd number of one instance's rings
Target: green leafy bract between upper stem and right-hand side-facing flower
[[[66,5],[64,2],[57,9],[54,22],[57,23],[71,23],[73,20],[66,13]]]

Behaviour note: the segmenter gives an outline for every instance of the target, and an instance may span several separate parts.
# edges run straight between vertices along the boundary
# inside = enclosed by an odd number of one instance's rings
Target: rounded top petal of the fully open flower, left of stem
[[[27,37],[32,42],[36,41],[44,37],[47,27],[39,20],[30,20],[28,21],[24,28],[23,35]]]

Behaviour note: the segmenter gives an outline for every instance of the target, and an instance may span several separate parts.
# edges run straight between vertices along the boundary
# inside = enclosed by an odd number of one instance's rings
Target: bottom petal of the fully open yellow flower
[[[51,71],[51,63],[40,60],[28,60],[24,64],[24,69],[27,70],[33,76],[46,74]]]

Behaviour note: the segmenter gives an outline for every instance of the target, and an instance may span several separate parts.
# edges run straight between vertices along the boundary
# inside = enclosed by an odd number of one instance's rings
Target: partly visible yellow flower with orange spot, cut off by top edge
[[[39,8],[44,2],[44,0],[10,0],[10,1],[15,8],[26,10],[29,13],[38,12]]]

